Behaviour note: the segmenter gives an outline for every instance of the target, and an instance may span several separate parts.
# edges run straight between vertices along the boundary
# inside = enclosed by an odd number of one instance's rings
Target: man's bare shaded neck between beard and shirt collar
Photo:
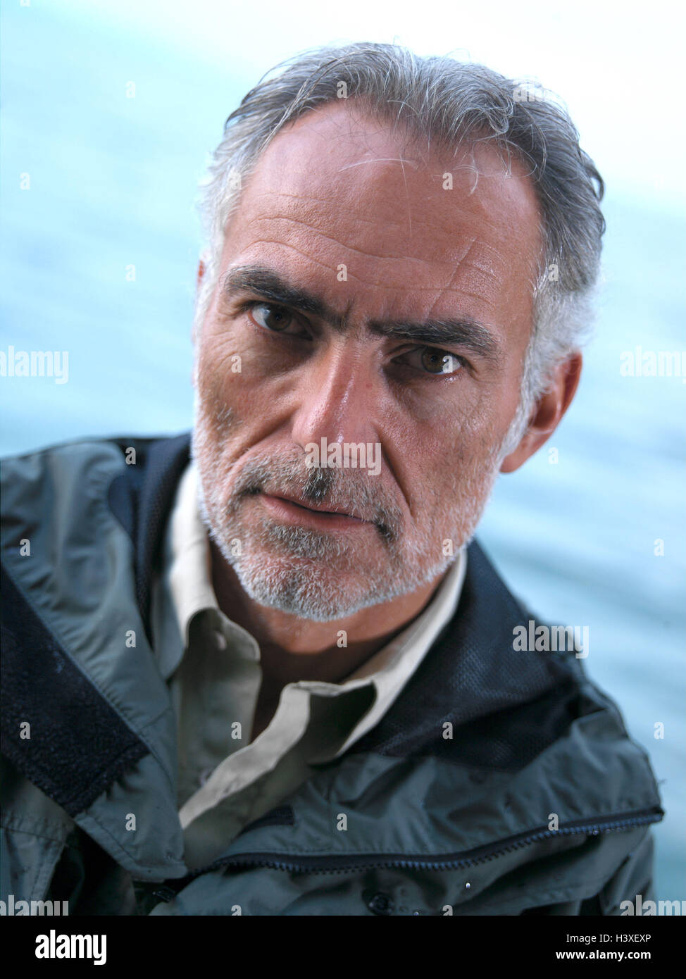
[[[279,692],[298,679],[337,683],[353,673],[422,612],[447,574],[383,605],[331,622],[312,622],[252,601],[211,540],[210,550],[219,608],[254,636],[260,648],[263,684]],[[339,645],[342,630],[343,647]]]

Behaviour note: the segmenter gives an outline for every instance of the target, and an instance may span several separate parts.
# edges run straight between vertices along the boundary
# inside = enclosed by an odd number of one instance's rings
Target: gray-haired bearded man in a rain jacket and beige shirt
[[[3,465],[6,891],[80,914],[651,895],[645,752],[473,540],[572,401],[604,230],[534,95],[355,44],[227,120],[192,437]]]

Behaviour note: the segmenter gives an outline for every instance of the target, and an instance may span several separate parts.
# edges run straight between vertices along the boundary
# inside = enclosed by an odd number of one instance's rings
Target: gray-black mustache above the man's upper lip
[[[308,467],[304,455],[283,454],[253,456],[243,464],[239,459],[232,468],[236,469],[236,478],[229,508],[234,512],[244,496],[259,492],[288,494],[304,505],[329,505],[375,524],[385,539],[394,540],[402,532],[402,510],[385,498],[378,481],[370,484],[362,470]]]

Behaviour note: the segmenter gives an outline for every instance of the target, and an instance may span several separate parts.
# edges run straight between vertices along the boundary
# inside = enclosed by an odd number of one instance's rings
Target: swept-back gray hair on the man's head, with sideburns
[[[508,167],[524,162],[541,214],[543,257],[530,283],[533,328],[523,365],[520,405],[503,443],[519,443],[555,366],[578,350],[592,322],[605,220],[604,183],[580,149],[565,109],[546,90],[482,65],[420,58],[395,44],[356,43],[305,51],[260,79],[227,118],[203,181],[204,276],[194,328],[206,316],[219,275],[226,225],[241,188],[274,136],[289,122],[342,97],[419,139],[453,146],[494,141]],[[270,72],[267,72],[269,74]]]

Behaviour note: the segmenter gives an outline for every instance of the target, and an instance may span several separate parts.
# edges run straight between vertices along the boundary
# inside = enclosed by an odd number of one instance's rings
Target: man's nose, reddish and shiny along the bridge
[[[296,391],[293,439],[308,443],[375,443],[381,378],[368,354],[337,338],[303,369]]]

